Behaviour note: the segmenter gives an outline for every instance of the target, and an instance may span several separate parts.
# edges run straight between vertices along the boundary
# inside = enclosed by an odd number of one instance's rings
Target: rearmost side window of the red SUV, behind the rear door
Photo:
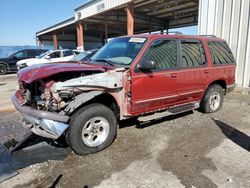
[[[234,64],[234,56],[226,42],[208,42],[213,64]]]

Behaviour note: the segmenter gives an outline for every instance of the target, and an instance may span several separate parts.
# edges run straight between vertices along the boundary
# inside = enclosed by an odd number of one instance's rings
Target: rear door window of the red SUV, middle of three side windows
[[[200,41],[181,40],[180,67],[199,67],[206,65],[205,51]]]

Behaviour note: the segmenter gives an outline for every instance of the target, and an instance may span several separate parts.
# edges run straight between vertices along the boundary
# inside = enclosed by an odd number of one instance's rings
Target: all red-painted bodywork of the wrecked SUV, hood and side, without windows
[[[226,85],[235,83],[236,65],[216,66],[207,45],[208,40],[223,41],[219,38],[183,35],[135,35],[146,37],[147,42],[140,51],[130,70],[124,73],[124,89],[121,93],[110,93],[117,101],[122,116],[138,116],[149,112],[167,109],[170,106],[189,102],[199,102],[207,87],[215,81]],[[196,39],[203,44],[207,65],[195,68],[179,68],[151,73],[136,73],[135,67],[143,54],[156,39]],[[93,64],[57,63],[25,68],[19,71],[19,80],[31,83],[61,72],[100,71],[110,67]]]

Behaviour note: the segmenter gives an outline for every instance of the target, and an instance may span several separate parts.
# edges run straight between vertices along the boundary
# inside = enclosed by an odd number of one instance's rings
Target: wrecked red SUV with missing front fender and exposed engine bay
[[[65,136],[79,155],[109,146],[120,120],[218,111],[235,87],[235,60],[216,37],[134,35],[116,38],[89,61],[18,72],[12,101],[35,134]]]

